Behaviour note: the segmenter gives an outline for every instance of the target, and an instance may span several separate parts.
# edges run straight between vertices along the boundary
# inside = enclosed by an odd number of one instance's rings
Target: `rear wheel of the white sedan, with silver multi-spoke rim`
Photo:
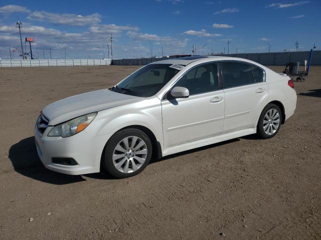
[[[281,122],[281,109],[273,103],[267,104],[257,123],[257,135],[263,139],[275,136],[280,129]]]

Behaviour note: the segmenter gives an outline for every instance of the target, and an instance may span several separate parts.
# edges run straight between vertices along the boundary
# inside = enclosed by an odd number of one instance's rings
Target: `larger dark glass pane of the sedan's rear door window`
[[[221,61],[223,88],[253,83],[251,65],[238,61]]]

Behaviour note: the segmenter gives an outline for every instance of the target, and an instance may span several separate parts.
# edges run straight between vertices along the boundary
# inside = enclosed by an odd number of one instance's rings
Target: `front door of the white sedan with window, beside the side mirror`
[[[223,132],[225,98],[216,62],[191,68],[175,86],[188,88],[190,95],[173,98],[169,91],[163,97],[164,148]]]

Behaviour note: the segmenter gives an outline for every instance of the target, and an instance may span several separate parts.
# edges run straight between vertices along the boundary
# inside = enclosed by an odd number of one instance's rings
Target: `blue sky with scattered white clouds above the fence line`
[[[33,52],[43,58],[102,58],[110,34],[113,56],[294,51],[321,47],[320,0],[2,0],[0,57],[9,58],[9,45],[20,49],[17,16],[23,40],[34,37]],[[27,49],[29,49],[27,47]],[[13,58],[19,58],[13,52]]]

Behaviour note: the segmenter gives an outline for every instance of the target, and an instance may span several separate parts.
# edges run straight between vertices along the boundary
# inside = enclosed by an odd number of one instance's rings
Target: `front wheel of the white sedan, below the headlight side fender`
[[[147,134],[136,128],[117,131],[108,140],[102,165],[117,178],[137,175],[149,163],[152,144]]]

